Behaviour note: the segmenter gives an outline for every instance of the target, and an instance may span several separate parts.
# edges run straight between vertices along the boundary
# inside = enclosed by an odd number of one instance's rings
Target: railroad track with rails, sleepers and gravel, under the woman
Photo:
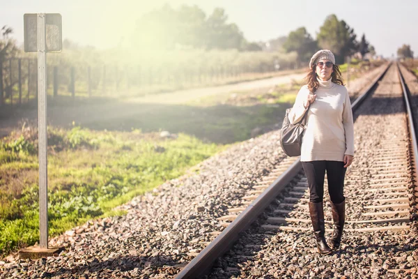
[[[341,250],[329,256],[316,253],[307,179],[299,160],[286,158],[242,198],[240,206],[219,218],[222,232],[202,243],[206,248],[176,278],[414,276],[417,144],[403,100],[408,93],[403,91],[401,72],[392,63],[353,103],[356,153],[346,174]],[[324,202],[330,236],[326,180]],[[341,264],[330,264],[335,260]]]

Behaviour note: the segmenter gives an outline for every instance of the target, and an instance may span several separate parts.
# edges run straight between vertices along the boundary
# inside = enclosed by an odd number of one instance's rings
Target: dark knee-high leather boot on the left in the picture
[[[309,214],[311,215],[312,227],[314,227],[316,243],[318,244],[318,252],[320,255],[328,255],[332,252],[332,250],[325,241],[323,202],[309,202]]]

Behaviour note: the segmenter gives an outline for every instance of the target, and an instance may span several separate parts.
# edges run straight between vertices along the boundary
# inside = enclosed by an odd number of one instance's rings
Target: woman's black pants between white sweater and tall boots
[[[327,171],[328,193],[330,193],[331,202],[339,204],[346,199],[343,186],[347,168],[344,167],[343,162],[310,161],[302,162],[302,167],[308,179],[310,202],[323,202],[325,170]]]

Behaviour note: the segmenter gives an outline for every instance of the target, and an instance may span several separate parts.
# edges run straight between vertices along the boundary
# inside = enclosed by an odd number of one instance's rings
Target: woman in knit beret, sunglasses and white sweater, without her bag
[[[346,169],[353,162],[354,129],[348,91],[341,79],[330,50],[320,50],[309,62],[307,84],[302,86],[289,114],[297,123],[307,112],[307,126],[302,137],[300,161],[309,185],[309,214],[318,252],[328,255],[339,248],[346,215],[343,195]],[[334,232],[325,241],[323,194],[325,170],[328,178]]]

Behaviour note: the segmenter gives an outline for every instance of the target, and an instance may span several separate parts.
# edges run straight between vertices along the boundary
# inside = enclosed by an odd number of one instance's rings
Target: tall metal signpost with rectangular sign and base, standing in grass
[[[45,257],[61,248],[48,247],[47,179],[47,52],[62,50],[59,13],[24,14],[24,51],[38,52],[39,247],[19,251],[20,257]]]

